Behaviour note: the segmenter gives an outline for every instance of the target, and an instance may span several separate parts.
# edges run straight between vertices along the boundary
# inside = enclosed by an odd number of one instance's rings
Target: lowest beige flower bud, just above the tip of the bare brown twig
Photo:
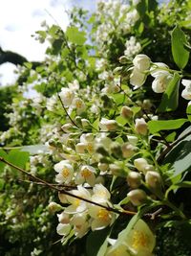
[[[127,194],[127,197],[135,205],[141,205],[147,198],[146,193],[141,189],[135,189]]]

